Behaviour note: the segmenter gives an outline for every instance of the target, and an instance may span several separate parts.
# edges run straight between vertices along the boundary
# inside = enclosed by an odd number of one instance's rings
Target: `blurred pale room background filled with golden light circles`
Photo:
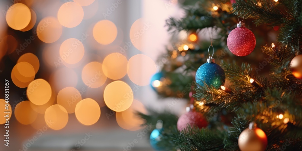
[[[9,147],[1,145],[0,150],[152,150],[148,131],[155,124],[141,127],[144,121],[135,112],[181,115],[188,104],[188,97],[158,96],[153,88],[160,83],[150,86],[167,60],[176,54],[185,58],[183,49],[195,49],[185,44],[187,31],[168,32],[165,26],[170,17],[184,17],[185,2],[1,1],[0,78],[9,81],[11,112]],[[267,34],[261,28],[253,31],[257,46],[276,41],[275,29]],[[219,34],[214,31],[214,38]],[[207,50],[209,32],[196,36]],[[179,41],[185,42],[176,47],[173,43]],[[167,49],[177,53],[165,56]],[[264,59],[259,52],[249,56],[254,66]],[[192,79],[188,81],[191,87]],[[5,89],[3,83],[1,87]],[[0,96],[4,104],[5,93]],[[6,120],[0,122],[3,139]]]

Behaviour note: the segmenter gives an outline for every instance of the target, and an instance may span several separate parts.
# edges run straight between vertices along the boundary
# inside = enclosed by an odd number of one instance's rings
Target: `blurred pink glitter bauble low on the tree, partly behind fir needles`
[[[178,118],[177,128],[179,131],[187,128],[187,125],[191,127],[206,127],[208,125],[207,120],[199,112],[189,111]]]

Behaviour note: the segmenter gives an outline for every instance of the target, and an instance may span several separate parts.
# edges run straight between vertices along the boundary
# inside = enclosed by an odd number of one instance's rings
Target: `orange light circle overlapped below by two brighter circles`
[[[66,87],[59,91],[57,102],[62,105],[67,112],[74,113],[76,104],[82,100],[80,92],[74,87]]]

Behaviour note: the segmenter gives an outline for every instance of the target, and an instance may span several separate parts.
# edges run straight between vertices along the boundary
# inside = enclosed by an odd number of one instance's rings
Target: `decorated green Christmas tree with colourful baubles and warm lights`
[[[151,86],[187,98],[188,112],[139,113],[159,125],[154,149],[302,150],[302,1],[200,0],[184,8],[167,26],[188,36],[172,39]]]

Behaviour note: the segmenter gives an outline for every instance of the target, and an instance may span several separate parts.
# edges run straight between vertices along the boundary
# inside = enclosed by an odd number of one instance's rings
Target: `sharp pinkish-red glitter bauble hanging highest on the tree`
[[[256,38],[252,31],[244,27],[241,21],[227,37],[227,47],[236,56],[249,55],[256,46]]]

